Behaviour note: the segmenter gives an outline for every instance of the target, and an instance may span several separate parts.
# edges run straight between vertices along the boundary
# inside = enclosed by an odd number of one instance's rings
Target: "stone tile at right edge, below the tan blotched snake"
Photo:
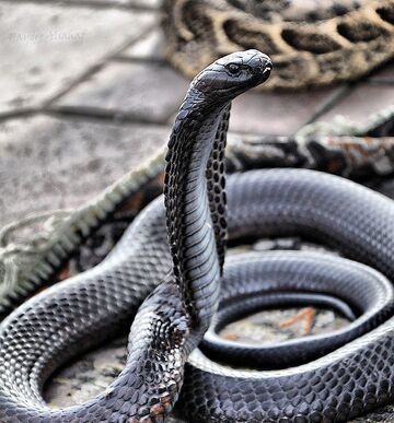
[[[318,120],[331,121],[335,116],[344,116],[352,121],[364,122],[370,115],[393,104],[394,85],[362,83]]]

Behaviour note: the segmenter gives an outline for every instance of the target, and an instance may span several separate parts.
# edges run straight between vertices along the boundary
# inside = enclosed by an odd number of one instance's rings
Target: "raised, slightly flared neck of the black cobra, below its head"
[[[224,162],[227,105],[207,103],[197,90],[187,93],[169,142],[164,188],[175,282],[192,325],[202,331],[217,306],[225,235],[225,222],[218,219],[215,202],[225,200],[218,173],[224,166],[219,162]]]

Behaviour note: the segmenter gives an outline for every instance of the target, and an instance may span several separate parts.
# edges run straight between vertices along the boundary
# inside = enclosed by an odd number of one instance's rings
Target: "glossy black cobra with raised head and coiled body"
[[[267,56],[250,50],[204,70],[169,143],[165,208],[162,198],[153,201],[100,266],[2,322],[1,422],[161,422],[177,400],[188,422],[340,422],[393,399],[392,201],[312,171],[254,171],[229,178],[227,216],[229,104],[270,69]],[[317,252],[234,255],[219,290],[227,223],[231,239],[299,234],[361,263]],[[253,308],[291,295],[331,304],[339,296],[360,316],[328,342],[305,339],[308,353],[297,359],[305,364],[234,369],[196,349],[220,295],[228,316],[237,313],[236,296]],[[135,315],[125,369],[108,389],[84,404],[49,409],[40,390],[53,371],[125,330]],[[201,348],[215,355],[223,345],[207,339]]]

